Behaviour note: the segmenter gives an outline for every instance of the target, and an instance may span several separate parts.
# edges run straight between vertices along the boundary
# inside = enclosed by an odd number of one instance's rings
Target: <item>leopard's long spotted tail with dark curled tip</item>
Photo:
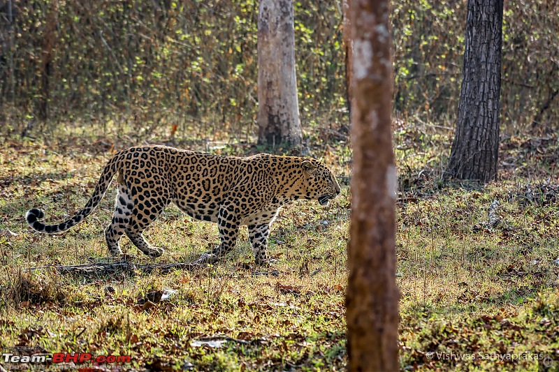
[[[25,215],[25,219],[27,223],[33,230],[38,232],[46,232],[48,234],[55,234],[57,232],[62,232],[64,230],[68,230],[73,225],[77,225],[81,221],[83,221],[101,202],[107,188],[112,181],[112,177],[115,176],[117,172],[117,165],[118,165],[118,158],[119,154],[115,155],[105,166],[103,172],[101,173],[101,177],[99,177],[99,182],[97,182],[97,186],[95,186],[95,191],[85,207],[78,211],[72,218],[64,221],[63,223],[59,223],[57,225],[45,225],[44,223],[38,221],[39,219],[45,216],[45,212],[41,209],[33,208],[30,209],[27,214]]]

